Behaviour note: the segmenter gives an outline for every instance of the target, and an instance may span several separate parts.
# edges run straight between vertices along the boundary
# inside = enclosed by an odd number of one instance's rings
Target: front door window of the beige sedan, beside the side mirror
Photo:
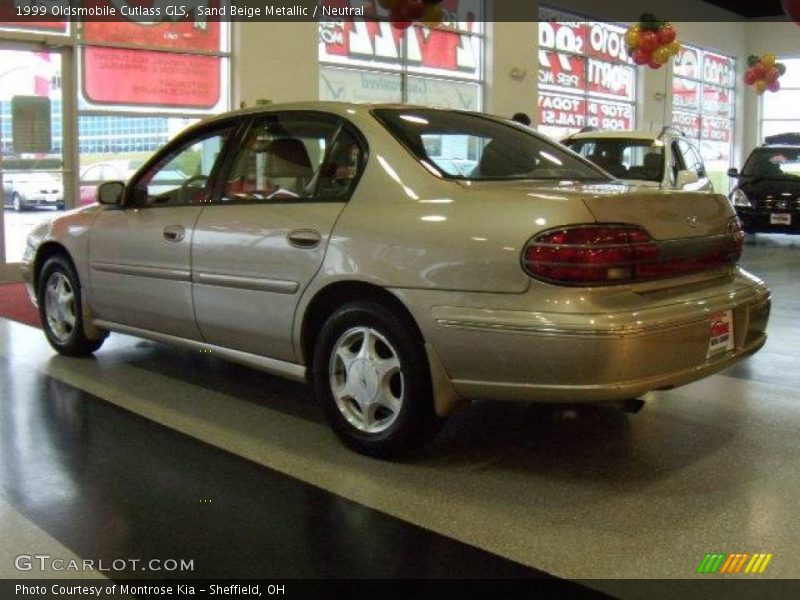
[[[137,206],[177,206],[209,202],[212,173],[233,127],[206,132],[165,154],[134,184]]]

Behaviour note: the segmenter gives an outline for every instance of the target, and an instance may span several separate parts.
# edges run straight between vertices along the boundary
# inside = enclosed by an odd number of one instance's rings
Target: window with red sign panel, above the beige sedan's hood
[[[81,198],[103,173],[127,179],[156,149],[230,106],[230,24],[86,22],[78,32]],[[133,42],[133,43],[132,43]],[[86,192],[90,190],[90,192]]]

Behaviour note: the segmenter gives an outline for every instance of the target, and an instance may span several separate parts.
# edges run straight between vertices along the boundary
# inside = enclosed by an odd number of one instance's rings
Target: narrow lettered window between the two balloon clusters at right
[[[675,57],[672,124],[698,143],[708,177],[728,191],[733,153],[736,59],[684,45]]]

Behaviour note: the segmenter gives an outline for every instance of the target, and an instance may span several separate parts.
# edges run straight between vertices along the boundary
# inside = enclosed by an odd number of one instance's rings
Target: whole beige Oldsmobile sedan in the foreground
[[[769,290],[736,266],[724,196],[631,190],[487,116],[238,111],[98,196],[28,239],[57,351],[118,331],[309,380],[373,456],[432,439],[464,400],[636,398],[766,339]]]

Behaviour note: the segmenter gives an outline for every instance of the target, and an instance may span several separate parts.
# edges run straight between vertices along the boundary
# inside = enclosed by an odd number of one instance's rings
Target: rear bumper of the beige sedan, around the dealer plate
[[[674,299],[589,314],[435,306],[423,333],[462,398],[555,402],[621,400],[684,385],[766,341],[763,284],[737,277]],[[733,348],[709,357],[712,317],[728,310]]]

